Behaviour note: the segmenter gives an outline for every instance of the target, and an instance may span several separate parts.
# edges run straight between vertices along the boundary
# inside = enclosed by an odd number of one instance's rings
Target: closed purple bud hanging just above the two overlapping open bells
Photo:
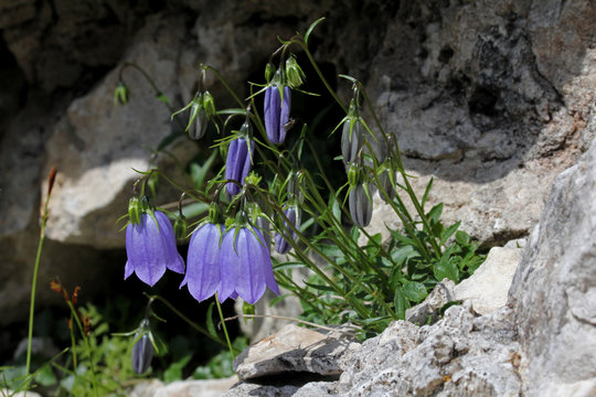
[[[249,135],[249,125],[245,122],[241,128],[238,137],[230,142],[227,159],[225,161],[225,179],[244,184],[244,179],[251,172],[253,152],[254,143]],[[241,191],[241,186],[233,182],[230,182],[226,189],[227,193],[232,196],[238,194]]]

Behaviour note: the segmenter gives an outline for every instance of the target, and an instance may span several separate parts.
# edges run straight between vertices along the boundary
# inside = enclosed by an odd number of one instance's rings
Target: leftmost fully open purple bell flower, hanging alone
[[[128,224],[126,255],[125,279],[135,272],[142,282],[153,286],[167,268],[184,272],[184,260],[178,254],[172,224],[161,211],[143,212],[138,224]]]

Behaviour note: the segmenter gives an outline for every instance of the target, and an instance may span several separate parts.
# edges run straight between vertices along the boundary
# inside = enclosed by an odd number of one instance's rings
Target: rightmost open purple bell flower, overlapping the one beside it
[[[220,301],[240,296],[254,304],[267,287],[279,294],[269,249],[258,229],[244,226],[228,229],[222,240],[220,260]]]

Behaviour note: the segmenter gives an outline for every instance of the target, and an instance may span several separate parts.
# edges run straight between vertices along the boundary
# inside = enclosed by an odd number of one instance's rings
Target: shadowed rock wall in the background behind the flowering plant
[[[175,129],[130,69],[130,105],[114,107],[123,62],[141,63],[175,106],[192,96],[199,62],[242,96],[241,82],[260,81],[276,35],[326,15],[315,56],[365,84],[408,173],[419,176],[415,189],[435,178],[429,204],[445,203],[445,222],[461,219],[494,246],[531,230],[551,181],[594,138],[595,13],[589,0],[1,2],[0,323],[25,315],[40,192],[54,163],[40,279],[57,275],[91,297],[121,273],[121,251],[106,249],[124,246],[114,221],[130,194],[129,171],[168,167],[151,149]],[[213,76],[207,84],[216,100],[225,95]],[[349,84],[332,84],[348,98]],[[187,143],[173,148],[182,159],[195,150]],[[376,207],[382,229],[393,218]],[[60,297],[45,290],[39,301]]]

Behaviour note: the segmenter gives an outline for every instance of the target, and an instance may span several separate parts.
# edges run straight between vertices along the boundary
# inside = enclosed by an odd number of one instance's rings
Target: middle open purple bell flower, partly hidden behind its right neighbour
[[[192,234],[187,257],[187,276],[180,288],[188,286],[199,302],[212,297],[220,286],[220,239],[222,225],[204,223]]]

